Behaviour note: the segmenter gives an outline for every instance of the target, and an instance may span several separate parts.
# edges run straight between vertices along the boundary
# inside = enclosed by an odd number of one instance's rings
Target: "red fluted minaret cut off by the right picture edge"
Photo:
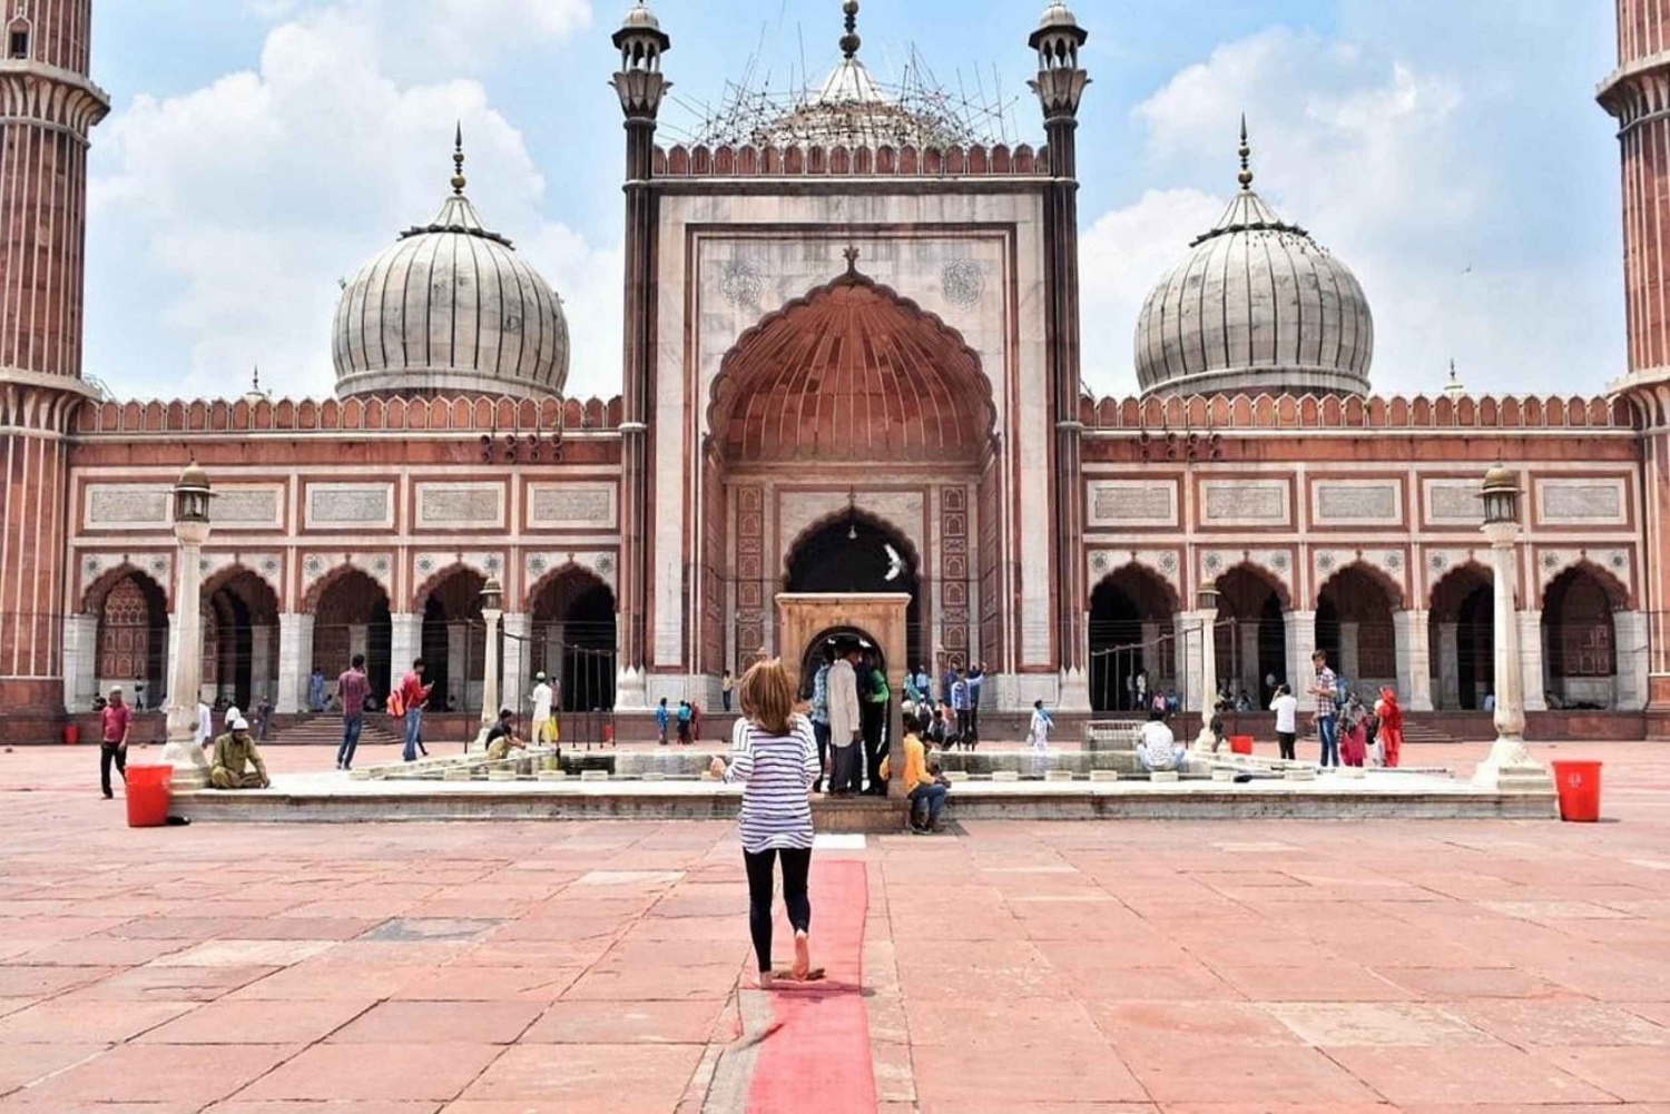
[[[1648,615],[1648,710],[1670,735],[1670,0],[1618,0],[1618,68],[1600,104],[1623,160],[1628,372],[1613,391],[1642,419],[1647,539],[1638,608]]]

